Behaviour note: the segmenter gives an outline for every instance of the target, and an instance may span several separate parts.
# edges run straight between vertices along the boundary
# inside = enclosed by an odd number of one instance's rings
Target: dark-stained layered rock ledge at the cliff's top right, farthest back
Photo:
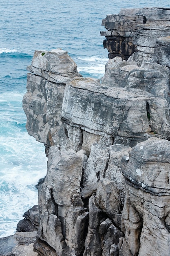
[[[108,57],[120,56],[127,60],[137,52],[138,61],[141,61],[141,55],[143,58],[154,58],[154,53],[157,55],[157,38],[170,34],[169,22],[168,8],[121,9],[119,14],[107,15],[102,20],[107,31],[102,31],[101,35],[106,37],[104,48],[108,49]],[[166,42],[163,40],[162,44],[164,46]]]

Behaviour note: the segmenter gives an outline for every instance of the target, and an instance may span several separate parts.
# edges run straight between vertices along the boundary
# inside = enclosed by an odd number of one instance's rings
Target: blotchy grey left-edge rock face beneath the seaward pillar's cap
[[[49,124],[46,121],[46,80],[33,74],[27,75],[27,92],[23,98],[26,129],[36,140],[46,143]]]

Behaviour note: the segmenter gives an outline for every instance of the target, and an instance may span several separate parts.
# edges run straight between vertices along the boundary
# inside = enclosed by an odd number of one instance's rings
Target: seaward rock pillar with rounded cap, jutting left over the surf
[[[33,74],[27,76],[27,92],[23,98],[26,129],[29,135],[48,146],[59,145],[64,88],[66,82],[81,76],[77,65],[67,52],[55,49],[35,51],[27,69]]]

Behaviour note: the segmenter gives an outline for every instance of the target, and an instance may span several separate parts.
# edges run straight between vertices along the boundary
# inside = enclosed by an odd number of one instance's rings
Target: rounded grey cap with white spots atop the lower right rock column
[[[150,138],[137,144],[130,151],[129,162],[126,170],[122,170],[123,173],[152,193],[169,193],[169,148],[169,141],[158,138]]]

